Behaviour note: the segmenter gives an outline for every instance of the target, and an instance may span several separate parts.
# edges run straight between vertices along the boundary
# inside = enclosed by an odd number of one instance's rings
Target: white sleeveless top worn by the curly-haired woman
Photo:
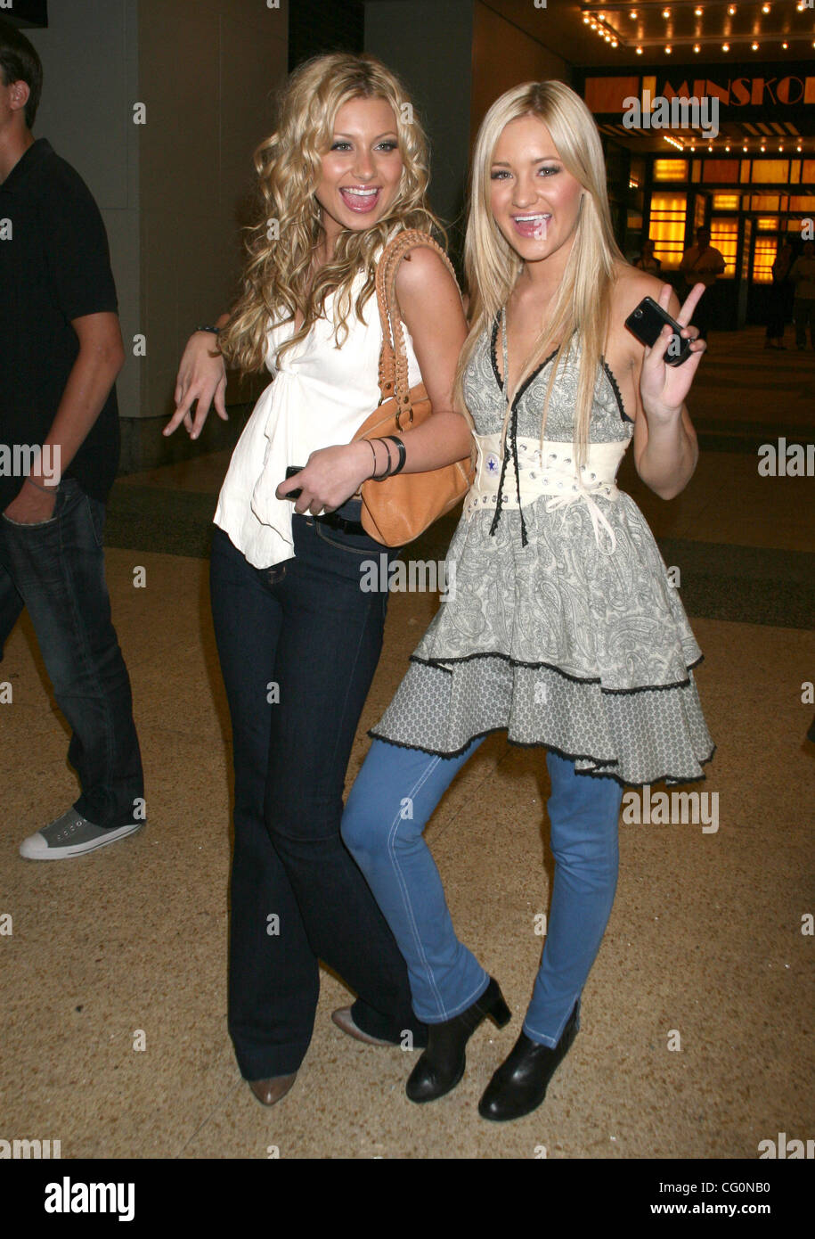
[[[375,292],[365,302],[365,322],[357,317],[354,306],[363,282],[360,271],[352,285],[348,335],[341,348],[334,338],[333,294],[326,299],[325,317],[284,353],[279,368],[275,354],[294,336],[294,323],[274,325],[266,333],[266,368],[275,378],[238,440],[213,518],[254,567],[271,567],[295,554],[294,501],[275,498],[286,468],[306,465],[318,447],[351,442],[379,404],[381,325]],[[407,377],[414,387],[422,379],[406,327],[404,333]]]

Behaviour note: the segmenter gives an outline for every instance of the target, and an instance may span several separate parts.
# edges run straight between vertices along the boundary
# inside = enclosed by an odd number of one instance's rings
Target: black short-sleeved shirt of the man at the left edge
[[[0,445],[42,446],[79,353],[71,322],[116,313],[108,238],[90,191],[40,138],[0,185]],[[66,477],[104,503],[119,463],[113,387]],[[27,468],[27,465],[25,466]],[[0,512],[21,477],[0,466]]]

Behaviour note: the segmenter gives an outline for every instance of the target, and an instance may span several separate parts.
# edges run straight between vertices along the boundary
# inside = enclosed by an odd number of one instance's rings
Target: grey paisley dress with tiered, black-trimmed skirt
[[[484,332],[464,374],[478,435],[500,431],[507,409],[497,331]],[[518,436],[540,436],[551,362],[513,401],[504,492]],[[544,446],[571,441],[577,382],[575,341],[557,368]],[[603,362],[590,442],[632,435]],[[715,747],[692,675],[702,655],[645,518],[623,492],[597,498],[614,533],[609,551],[586,503],[547,510],[546,498],[462,515],[447,553],[455,590],[370,735],[450,757],[505,729],[512,743],[546,746],[622,783],[702,778]]]

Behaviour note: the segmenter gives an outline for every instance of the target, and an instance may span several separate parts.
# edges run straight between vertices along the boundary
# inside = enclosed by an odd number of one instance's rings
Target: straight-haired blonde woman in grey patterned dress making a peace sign
[[[549,932],[520,1037],[479,1113],[540,1104],[578,1028],[580,997],[611,913],[623,787],[702,776],[712,742],[692,668],[701,653],[654,538],[617,489],[633,444],[665,499],[697,445],[685,396],[705,344],[684,306],[628,265],[612,234],[597,128],[559,82],[504,94],[473,160],[467,230],[472,327],[460,406],[478,473],[450,546],[455,595],[411,658],[352,789],[343,838],[407,960],[430,1027],[414,1101],[456,1087],[468,1037],[510,1018],[498,984],[458,942],[422,830],[492,731],[546,748],[555,856]],[[624,327],[643,296],[694,341],[666,364]],[[410,813],[405,813],[405,803]]]

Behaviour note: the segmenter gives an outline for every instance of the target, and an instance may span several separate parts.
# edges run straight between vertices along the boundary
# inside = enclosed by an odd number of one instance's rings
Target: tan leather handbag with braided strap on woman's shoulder
[[[379,352],[379,404],[362,424],[357,439],[381,439],[420,426],[431,415],[422,383],[407,385],[407,354],[394,284],[399,264],[410,249],[426,245],[453,271],[445,252],[427,233],[407,228],[386,247],[377,265],[377,304],[381,322]],[[469,456],[425,473],[396,473],[377,482],[363,482],[360,520],[365,533],[385,546],[404,546],[419,538],[434,520],[455,508],[469,489],[474,476]]]

